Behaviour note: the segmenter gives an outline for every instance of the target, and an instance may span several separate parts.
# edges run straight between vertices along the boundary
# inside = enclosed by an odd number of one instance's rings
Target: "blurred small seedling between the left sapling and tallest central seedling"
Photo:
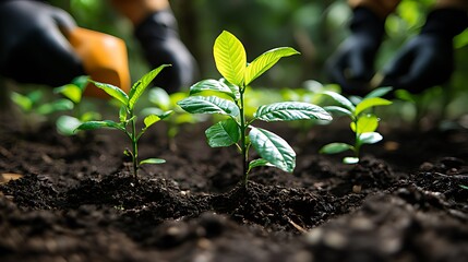
[[[187,98],[185,92],[177,92],[168,94],[160,87],[154,87],[148,91],[148,100],[155,107],[147,107],[142,110],[143,116],[151,114],[160,115],[165,111],[173,111],[170,118],[165,118],[164,121],[167,123],[167,138],[169,141],[169,148],[175,152],[177,151],[176,135],[180,132],[180,128],[183,123],[196,123],[205,121],[206,117],[202,115],[192,115],[182,110],[177,103]]]

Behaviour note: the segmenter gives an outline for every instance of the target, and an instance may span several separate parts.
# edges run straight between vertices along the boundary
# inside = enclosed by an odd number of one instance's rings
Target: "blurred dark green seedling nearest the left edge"
[[[65,98],[48,102],[48,95],[43,88],[37,88],[27,94],[11,92],[11,100],[23,114],[23,129],[31,130],[45,121],[50,115],[73,109],[73,103]]]

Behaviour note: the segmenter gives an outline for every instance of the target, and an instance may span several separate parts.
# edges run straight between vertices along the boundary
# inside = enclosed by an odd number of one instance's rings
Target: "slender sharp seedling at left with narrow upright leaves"
[[[156,78],[156,75],[166,67],[169,67],[168,64],[163,64],[153,71],[146,73],[143,75],[142,79],[140,79],[137,82],[135,82],[130,90],[130,94],[127,95],[122,90],[120,90],[117,86],[113,86],[111,84],[104,84],[95,81],[93,82],[97,87],[104,90],[107,94],[109,94],[111,97],[116,98],[121,103],[121,107],[119,110],[119,122],[112,121],[112,120],[103,120],[103,121],[87,121],[82,124],[80,124],[76,129],[77,130],[94,130],[94,129],[100,129],[100,128],[110,128],[110,129],[117,129],[122,132],[124,132],[131,143],[132,143],[132,150],[125,150],[124,154],[132,157],[133,163],[133,175],[135,177],[135,180],[139,176],[139,168],[142,164],[161,164],[165,163],[164,159],[160,158],[147,158],[144,160],[139,160],[139,140],[145,133],[145,131],[156,123],[157,121],[166,118],[171,114],[171,111],[165,111],[160,115],[148,115],[144,118],[144,128],[140,131],[140,133],[136,131],[136,119],[137,116],[134,114],[135,104],[143,94],[143,92],[146,90],[146,87],[151,84],[151,82]]]

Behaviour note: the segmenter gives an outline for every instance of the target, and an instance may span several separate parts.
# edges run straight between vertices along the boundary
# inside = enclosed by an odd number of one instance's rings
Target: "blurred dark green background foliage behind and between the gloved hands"
[[[435,0],[403,0],[386,22],[387,37],[376,61],[377,70],[411,36],[418,34]],[[132,78],[148,71],[132,26],[107,1],[51,0],[68,10],[77,24],[123,38],[129,47]],[[348,36],[351,10],[345,0],[170,0],[180,35],[201,69],[201,79],[219,78],[213,61],[214,39],[224,29],[245,46],[248,61],[262,52],[290,46],[302,55],[281,60],[254,85],[301,88],[308,80],[327,83],[324,64]],[[396,103],[394,115],[400,121],[432,114],[437,118],[460,118],[468,111],[468,32],[455,39],[457,71],[445,86],[436,86],[408,102]],[[416,102],[416,104],[415,104]],[[405,112],[403,114],[403,109]],[[392,111],[392,109],[388,109]],[[468,128],[468,123],[467,128]]]

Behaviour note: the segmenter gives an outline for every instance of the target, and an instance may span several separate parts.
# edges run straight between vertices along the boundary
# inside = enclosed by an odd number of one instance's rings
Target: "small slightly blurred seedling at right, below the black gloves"
[[[368,109],[376,106],[391,105],[391,100],[380,97],[387,94],[391,90],[391,87],[376,88],[360,99],[357,105],[338,93],[331,91],[324,92],[323,94],[332,97],[338,104],[338,106],[327,106],[324,107],[324,109],[348,116],[351,119],[350,128],[355,133],[355,144],[331,143],[323,146],[320,152],[323,154],[338,154],[345,151],[352,151],[353,156],[345,157],[343,162],[345,164],[359,163],[361,146],[363,144],[377,143],[383,139],[382,134],[375,131],[379,127],[380,119],[375,114],[369,112]]]

